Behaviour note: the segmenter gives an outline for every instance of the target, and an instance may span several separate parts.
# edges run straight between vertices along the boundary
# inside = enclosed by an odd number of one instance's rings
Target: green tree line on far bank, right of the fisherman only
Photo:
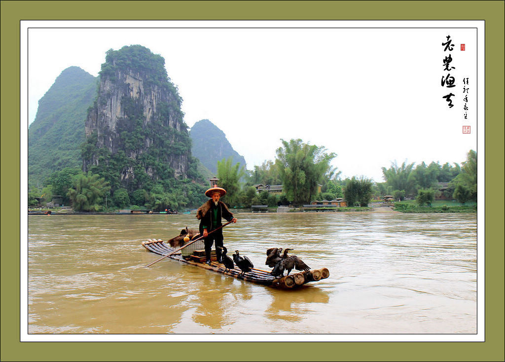
[[[420,205],[430,205],[436,196],[456,199],[461,203],[477,201],[477,152],[470,150],[467,160],[457,163],[403,162],[382,168],[384,182],[374,182],[364,176],[341,179],[341,172],[331,167],[337,156],[326,148],[304,143],[301,139],[281,140],[275,161],[265,161],[253,170],[239,169],[232,160],[218,162],[218,178],[231,195],[226,201],[231,206],[247,207],[254,204],[276,206],[301,205],[318,200],[344,198],[348,206],[367,206],[372,199],[393,196],[396,201],[415,199]],[[240,179],[245,177],[243,186]],[[440,183],[444,183],[444,187]],[[446,183],[446,185],[445,185]],[[281,194],[257,192],[254,185],[283,185]],[[320,188],[320,191],[318,191]]]

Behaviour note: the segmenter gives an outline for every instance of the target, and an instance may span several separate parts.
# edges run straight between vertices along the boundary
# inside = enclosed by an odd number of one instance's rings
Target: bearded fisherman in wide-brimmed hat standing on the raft
[[[205,191],[205,195],[211,197],[211,199],[196,211],[196,218],[200,220],[199,232],[205,238],[205,258],[208,265],[211,265],[211,248],[214,242],[216,242],[217,262],[222,262],[221,248],[218,246],[223,246],[223,229],[216,230],[223,225],[221,219],[224,218],[226,221],[232,221],[233,223],[237,222],[237,219],[233,217],[224,202],[219,201],[225,194],[226,190],[224,188],[214,185],[214,187]],[[213,230],[216,231],[209,235]]]

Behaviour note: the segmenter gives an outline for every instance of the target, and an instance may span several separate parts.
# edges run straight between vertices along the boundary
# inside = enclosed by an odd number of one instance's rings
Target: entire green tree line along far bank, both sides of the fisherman
[[[440,165],[424,162],[392,163],[382,168],[384,182],[374,182],[366,177],[341,179],[341,172],[331,166],[337,155],[323,146],[311,145],[301,139],[281,139],[274,161],[265,161],[252,170],[245,170],[232,158],[217,163],[219,186],[228,193],[223,197],[232,208],[250,208],[265,204],[302,205],[318,200],[344,198],[348,206],[367,206],[373,198],[392,195],[395,200],[416,198],[420,204],[430,204],[437,193],[465,203],[477,200],[477,153],[470,150],[467,160],[458,164]],[[196,172],[196,171],[195,171]],[[198,176],[198,175],[196,175]],[[201,180],[201,177],[200,177]],[[438,183],[447,187],[439,191]],[[281,194],[258,192],[255,185],[283,185]],[[28,205],[37,204],[37,197],[51,201],[60,195],[64,204],[75,211],[110,211],[113,209],[149,209],[153,211],[194,209],[207,200],[204,195],[208,185],[191,179],[167,178],[151,181],[136,190],[112,187],[99,173],[83,173],[79,169],[65,168],[48,177],[41,189],[28,192]]]

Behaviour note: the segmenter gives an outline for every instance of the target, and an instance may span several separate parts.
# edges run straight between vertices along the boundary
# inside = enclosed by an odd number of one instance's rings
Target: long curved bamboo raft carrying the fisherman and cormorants
[[[161,239],[148,239],[147,241],[142,241],[142,246],[148,251],[154,252],[155,254],[159,255],[168,255],[176,250],[172,248],[170,244],[165,243]],[[184,264],[207,269],[209,271],[236,279],[280,289],[294,289],[306,283],[317,282],[330,276],[330,272],[327,268],[294,273],[281,278],[276,278],[272,276],[270,272],[256,268],[252,268],[250,272],[247,272],[244,275],[240,275],[242,271],[236,266],[234,269],[225,271],[224,265],[216,262],[215,250],[212,250],[211,253],[210,266],[205,264],[204,250],[194,250],[193,254],[189,257],[183,257],[182,254],[178,252],[173,255],[167,256],[167,258]]]

